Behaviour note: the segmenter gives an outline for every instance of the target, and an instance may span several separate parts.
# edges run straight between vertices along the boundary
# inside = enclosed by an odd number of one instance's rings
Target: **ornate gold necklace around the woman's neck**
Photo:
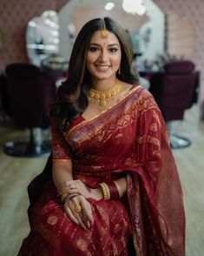
[[[121,91],[122,85],[116,80],[113,88],[108,91],[97,91],[93,88],[89,90],[89,98],[92,103],[98,104],[100,109],[105,109],[106,104]]]

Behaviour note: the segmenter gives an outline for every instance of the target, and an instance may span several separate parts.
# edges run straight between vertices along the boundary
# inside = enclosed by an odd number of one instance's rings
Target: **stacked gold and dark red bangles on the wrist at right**
[[[116,181],[106,183],[102,182],[98,186],[100,186],[102,189],[102,196],[104,200],[122,198],[122,188],[117,184]]]

